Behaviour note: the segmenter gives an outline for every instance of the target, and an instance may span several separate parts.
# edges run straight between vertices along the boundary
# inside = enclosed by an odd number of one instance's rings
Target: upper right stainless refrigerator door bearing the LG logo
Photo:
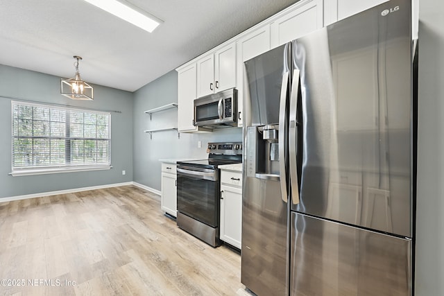
[[[293,51],[304,143],[292,209],[412,237],[409,2],[327,26]]]

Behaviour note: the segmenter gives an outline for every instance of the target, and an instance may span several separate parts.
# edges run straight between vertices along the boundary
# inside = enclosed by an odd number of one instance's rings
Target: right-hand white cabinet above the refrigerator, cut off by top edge
[[[388,0],[330,0],[325,1],[325,26],[340,21],[358,12],[377,6]]]

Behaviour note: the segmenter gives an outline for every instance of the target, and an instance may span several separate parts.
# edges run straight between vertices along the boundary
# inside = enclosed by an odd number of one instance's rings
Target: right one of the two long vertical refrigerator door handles
[[[289,115],[289,169],[291,184],[291,200],[293,204],[299,203],[299,184],[298,184],[298,162],[296,159],[298,147],[298,96],[300,89],[300,71],[293,71],[293,81],[290,93],[290,115]]]

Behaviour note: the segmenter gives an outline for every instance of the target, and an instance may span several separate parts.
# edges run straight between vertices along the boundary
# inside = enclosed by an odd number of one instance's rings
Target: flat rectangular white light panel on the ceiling
[[[128,21],[128,23],[138,26],[139,28],[153,32],[154,29],[159,26],[162,21],[157,19],[148,12],[141,10],[125,1],[123,4],[117,0],[85,0],[98,8],[110,12],[110,14],[120,17],[121,19]]]

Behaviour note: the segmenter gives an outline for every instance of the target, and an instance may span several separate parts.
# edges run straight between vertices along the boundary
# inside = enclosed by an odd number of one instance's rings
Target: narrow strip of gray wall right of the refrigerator
[[[444,295],[444,3],[420,0],[416,294]]]

